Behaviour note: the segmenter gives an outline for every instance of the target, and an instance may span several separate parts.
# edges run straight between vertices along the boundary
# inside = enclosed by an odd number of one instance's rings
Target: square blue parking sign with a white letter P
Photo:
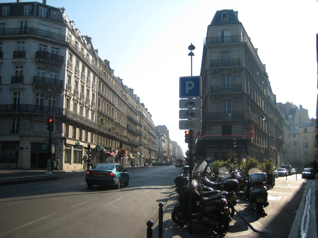
[[[179,78],[179,97],[197,98],[201,97],[201,76],[188,76]]]

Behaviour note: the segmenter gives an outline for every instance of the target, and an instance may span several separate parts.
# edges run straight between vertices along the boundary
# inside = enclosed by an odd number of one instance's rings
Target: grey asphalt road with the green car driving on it
[[[129,186],[93,186],[85,171],[58,180],[1,187],[0,237],[146,237],[158,204],[167,202],[180,168],[131,169]]]

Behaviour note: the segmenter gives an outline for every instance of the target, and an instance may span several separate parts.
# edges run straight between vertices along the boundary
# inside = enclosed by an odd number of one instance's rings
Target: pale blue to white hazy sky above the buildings
[[[302,105],[309,118],[316,117],[317,0],[47,0],[46,4],[66,9],[81,34],[92,38],[99,56],[110,61],[114,75],[134,89],[155,125],[166,125],[170,139],[183,152],[188,147],[184,130],[179,129],[179,77],[191,75],[191,43],[196,47],[192,74],[200,75],[207,27],[218,10],[238,11],[266,64],[277,102]]]

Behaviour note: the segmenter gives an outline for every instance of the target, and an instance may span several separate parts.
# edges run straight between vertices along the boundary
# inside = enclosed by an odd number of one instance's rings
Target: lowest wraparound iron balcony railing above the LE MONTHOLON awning
[[[258,117],[251,111],[230,111],[230,112],[205,112],[203,120],[244,120],[252,119],[258,122]]]

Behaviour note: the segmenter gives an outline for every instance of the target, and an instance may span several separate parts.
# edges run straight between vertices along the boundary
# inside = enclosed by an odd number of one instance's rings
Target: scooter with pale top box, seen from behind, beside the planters
[[[244,181],[244,194],[252,205],[255,215],[267,215],[264,208],[268,206],[267,188],[265,186],[266,174],[260,173],[259,169],[252,168],[248,171],[249,180]]]

